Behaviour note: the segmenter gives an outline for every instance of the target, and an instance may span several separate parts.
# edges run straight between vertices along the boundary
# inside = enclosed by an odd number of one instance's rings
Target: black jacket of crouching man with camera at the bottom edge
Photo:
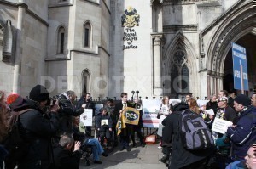
[[[79,169],[80,158],[82,157],[79,151],[69,151],[57,146],[54,149],[55,169]]]

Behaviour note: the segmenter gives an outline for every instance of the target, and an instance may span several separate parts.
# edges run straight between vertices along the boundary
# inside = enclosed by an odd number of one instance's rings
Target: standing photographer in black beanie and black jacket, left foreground
[[[20,161],[20,169],[41,169],[53,167],[51,138],[55,137],[59,120],[58,104],[44,112],[49,99],[49,92],[44,86],[37,85],[29,93],[29,99],[19,99],[18,103],[10,104],[13,110],[27,110],[20,115],[20,135],[28,145],[28,153]]]

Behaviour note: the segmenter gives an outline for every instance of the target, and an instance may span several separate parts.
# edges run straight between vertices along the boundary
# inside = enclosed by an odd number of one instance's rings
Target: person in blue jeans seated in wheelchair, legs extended
[[[84,153],[86,153],[86,148],[91,147],[94,163],[102,164],[102,161],[100,161],[100,155],[107,157],[108,153],[104,151],[97,138],[90,138],[85,134],[83,127],[84,124],[80,123],[80,116],[73,117],[73,139],[82,143],[81,150],[85,151]]]

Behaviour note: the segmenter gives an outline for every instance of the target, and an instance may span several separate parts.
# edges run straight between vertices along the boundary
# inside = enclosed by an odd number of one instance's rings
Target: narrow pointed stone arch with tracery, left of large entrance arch
[[[198,95],[198,87],[193,80],[198,78],[194,49],[193,44],[181,32],[168,45],[162,67],[164,95],[181,98],[184,93],[191,91]]]

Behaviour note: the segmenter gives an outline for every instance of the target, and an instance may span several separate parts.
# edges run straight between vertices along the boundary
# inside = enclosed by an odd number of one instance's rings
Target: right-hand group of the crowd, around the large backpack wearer
[[[232,96],[232,97],[231,97]],[[162,102],[165,102],[163,98]],[[210,101],[199,106],[191,94],[182,103],[170,104],[169,115],[162,121],[160,135],[163,144],[161,162],[172,169],[176,168],[256,168],[256,93],[251,99],[247,95],[228,95],[225,90],[212,95]],[[160,106],[161,107],[161,106]],[[161,109],[161,108],[160,108]],[[206,110],[214,112],[207,114]],[[183,110],[190,110],[200,116],[209,130],[213,121],[218,118],[230,121],[232,125],[223,133],[212,132],[212,148],[191,150],[184,148],[180,138],[180,115]]]

